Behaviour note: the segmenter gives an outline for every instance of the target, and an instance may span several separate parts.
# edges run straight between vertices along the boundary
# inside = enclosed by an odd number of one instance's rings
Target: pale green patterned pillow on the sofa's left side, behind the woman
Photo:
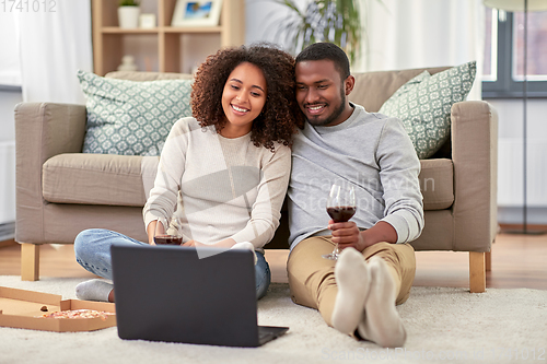
[[[160,155],[173,124],[191,116],[193,80],[128,81],[78,71],[88,99],[83,153]]]

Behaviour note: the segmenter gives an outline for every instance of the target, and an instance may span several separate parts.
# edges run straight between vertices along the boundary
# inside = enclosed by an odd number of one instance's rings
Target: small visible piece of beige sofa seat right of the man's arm
[[[452,160],[421,160],[419,175],[423,210],[443,210],[454,203],[454,164]]]

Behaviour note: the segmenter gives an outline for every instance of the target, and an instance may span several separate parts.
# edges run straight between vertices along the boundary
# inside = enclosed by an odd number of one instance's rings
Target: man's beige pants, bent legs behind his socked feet
[[[330,316],[338,293],[335,280],[336,260],[325,259],[322,255],[331,253],[334,247],[330,236],[310,237],[292,249],[287,262],[292,301],[318,309],[329,326],[333,326]],[[365,260],[372,257],[384,259],[398,289],[395,304],[400,305],[407,301],[416,272],[412,246],[377,243],[365,248],[362,254]]]

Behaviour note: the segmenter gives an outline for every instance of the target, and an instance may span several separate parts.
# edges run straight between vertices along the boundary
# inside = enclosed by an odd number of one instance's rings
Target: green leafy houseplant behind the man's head
[[[295,0],[271,1],[291,10],[290,16],[274,24],[278,25],[276,38],[284,35],[284,42],[294,55],[311,44],[330,42],[342,48],[351,62],[357,60],[365,35],[359,1],[312,0],[304,11]]]

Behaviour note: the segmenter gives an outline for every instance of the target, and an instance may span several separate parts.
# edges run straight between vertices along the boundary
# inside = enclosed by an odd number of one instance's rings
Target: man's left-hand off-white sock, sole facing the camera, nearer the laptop
[[[330,321],[340,332],[352,334],[363,316],[370,277],[363,256],[353,248],[344,249],[335,266],[338,285]]]

